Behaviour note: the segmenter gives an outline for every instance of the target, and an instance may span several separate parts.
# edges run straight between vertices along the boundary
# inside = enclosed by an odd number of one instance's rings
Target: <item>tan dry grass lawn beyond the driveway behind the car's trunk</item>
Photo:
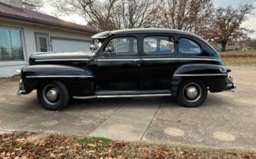
[[[256,66],[256,50],[219,53],[227,66]]]

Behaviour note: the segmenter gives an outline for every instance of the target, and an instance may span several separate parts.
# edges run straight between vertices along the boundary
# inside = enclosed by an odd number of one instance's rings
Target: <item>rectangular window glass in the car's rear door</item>
[[[172,54],[174,53],[174,39],[167,36],[145,37],[143,48],[146,54]]]

